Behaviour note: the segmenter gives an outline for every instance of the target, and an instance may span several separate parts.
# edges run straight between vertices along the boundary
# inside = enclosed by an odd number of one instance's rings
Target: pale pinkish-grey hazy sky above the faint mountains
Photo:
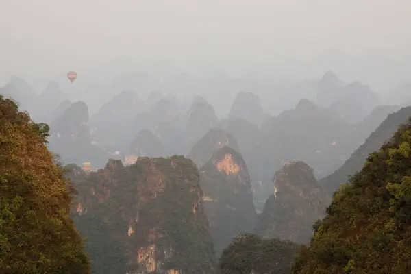
[[[278,69],[284,60],[307,64],[331,49],[394,63],[411,56],[410,0],[0,0],[0,7],[0,86],[12,75],[46,81],[119,55],[233,74]]]

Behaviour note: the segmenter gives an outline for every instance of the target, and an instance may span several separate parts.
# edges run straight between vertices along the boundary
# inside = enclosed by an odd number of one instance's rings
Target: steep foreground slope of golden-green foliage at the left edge
[[[89,273],[49,127],[0,95],[0,273]]]

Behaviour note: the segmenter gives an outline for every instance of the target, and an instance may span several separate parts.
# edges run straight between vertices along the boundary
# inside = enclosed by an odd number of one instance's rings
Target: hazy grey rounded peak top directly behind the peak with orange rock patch
[[[231,135],[223,132],[221,129],[210,129],[210,131],[201,138],[192,147],[187,158],[195,162],[198,168],[201,168],[216,151],[221,147],[229,146],[234,150],[239,151],[236,139]]]

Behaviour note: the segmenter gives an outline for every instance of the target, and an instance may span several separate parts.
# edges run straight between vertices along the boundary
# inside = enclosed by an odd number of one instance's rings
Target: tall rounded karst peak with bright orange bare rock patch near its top
[[[247,167],[240,153],[222,147],[200,170],[204,208],[216,253],[256,221]]]

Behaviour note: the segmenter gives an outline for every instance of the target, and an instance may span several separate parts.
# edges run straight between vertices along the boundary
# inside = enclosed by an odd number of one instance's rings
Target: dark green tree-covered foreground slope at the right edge
[[[411,119],[334,195],[292,273],[410,273]]]

